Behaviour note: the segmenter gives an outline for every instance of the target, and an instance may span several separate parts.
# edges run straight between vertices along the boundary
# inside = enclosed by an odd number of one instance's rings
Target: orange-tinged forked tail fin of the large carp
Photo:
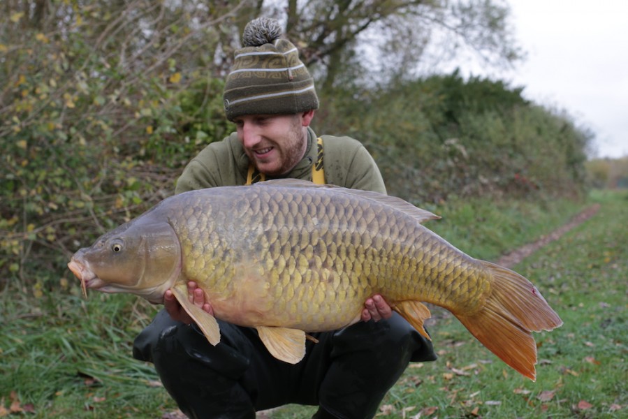
[[[492,353],[534,381],[536,343],[531,332],[553,330],[562,321],[530,281],[505,267],[481,263],[492,275],[485,307],[473,316],[456,317]]]

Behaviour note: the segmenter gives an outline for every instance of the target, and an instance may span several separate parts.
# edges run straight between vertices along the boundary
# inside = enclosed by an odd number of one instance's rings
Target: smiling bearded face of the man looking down
[[[270,176],[290,172],[303,158],[311,117],[297,115],[243,115],[235,118],[238,138],[256,168]],[[313,114],[312,114],[313,115]]]

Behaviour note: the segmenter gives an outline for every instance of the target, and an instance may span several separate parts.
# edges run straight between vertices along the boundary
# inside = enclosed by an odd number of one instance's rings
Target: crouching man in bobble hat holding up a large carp
[[[279,24],[264,18],[244,29],[244,47],[235,52],[224,91],[226,116],[237,130],[192,159],[176,193],[282,177],[386,193],[358,141],[316,139],[309,128],[318,108],[314,82],[280,35]],[[190,300],[212,313],[203,291],[188,285]],[[313,334],[318,343],[307,341],[296,365],[273,358],[254,329],[222,321],[221,342],[212,346],[170,291],[164,304],[137,337],[133,356],[154,363],[191,418],[254,418],[255,411],[289,403],[318,405],[314,418],[372,418],[409,361],[436,358],[430,342],[380,295],[365,302],[363,321]]]

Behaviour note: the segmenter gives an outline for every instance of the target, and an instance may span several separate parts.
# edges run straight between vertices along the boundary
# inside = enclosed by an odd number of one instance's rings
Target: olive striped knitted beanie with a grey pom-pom
[[[314,80],[299,59],[297,48],[280,38],[279,22],[251,20],[235,51],[224,89],[227,119],[240,115],[296,114],[319,108]]]

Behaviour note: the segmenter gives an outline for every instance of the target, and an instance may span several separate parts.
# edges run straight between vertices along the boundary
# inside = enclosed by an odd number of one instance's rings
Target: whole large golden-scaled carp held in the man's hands
[[[303,181],[225,186],[163,200],[80,249],[68,267],[84,293],[161,303],[172,290],[216,345],[215,318],[188,300],[187,282],[196,281],[214,316],[256,328],[270,353],[291,363],[305,355],[305,332],[356,323],[376,293],[428,337],[422,302],[430,302],[534,380],[531,332],[562,321],[530,281],[421,225],[437,218],[399,198]]]

